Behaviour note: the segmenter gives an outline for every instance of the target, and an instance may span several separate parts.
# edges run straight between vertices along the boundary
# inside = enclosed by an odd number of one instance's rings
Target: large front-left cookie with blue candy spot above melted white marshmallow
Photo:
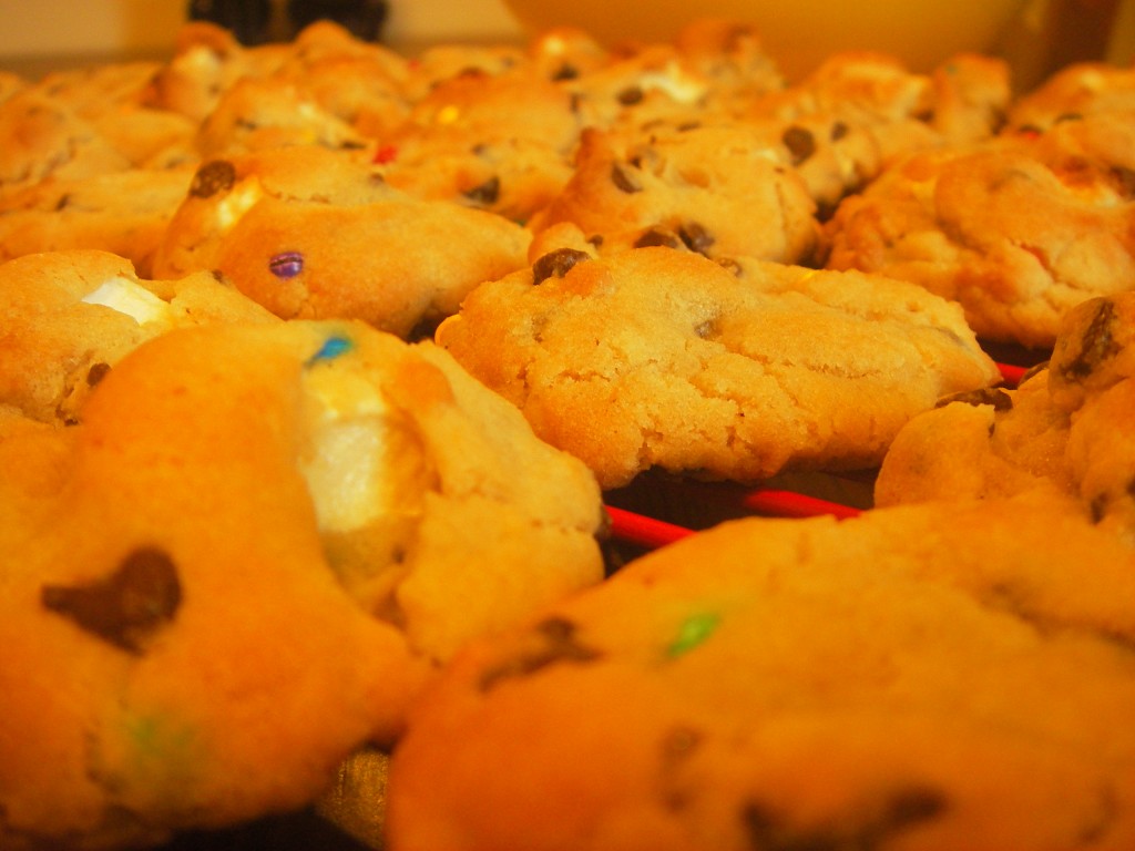
[[[0,461],[50,466],[48,428]],[[602,578],[586,467],[361,323],[171,331],[53,435],[47,492],[0,477],[5,848],[302,807],[464,641]]]

